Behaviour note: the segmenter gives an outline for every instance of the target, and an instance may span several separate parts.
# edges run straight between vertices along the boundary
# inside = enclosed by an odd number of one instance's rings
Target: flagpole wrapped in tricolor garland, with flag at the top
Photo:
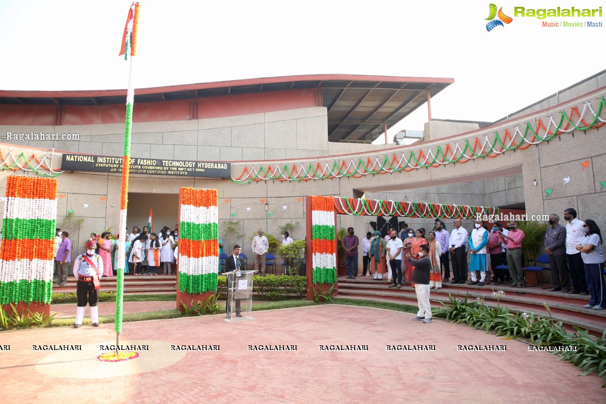
[[[132,24],[132,25],[131,25]],[[128,10],[125,30],[124,48],[125,58],[128,55],[128,42],[130,42],[130,67],[128,69],[128,90],[126,93],[126,119],[124,124],[124,156],[122,157],[122,191],[120,194],[120,239],[118,240],[118,280],[116,282],[116,357],[120,346],[120,334],[122,333],[122,308],[124,306],[124,264],[126,247],[126,214],[128,208],[128,170],[130,167],[130,135],[133,126],[133,104],[135,103],[135,88],[133,87],[133,64],[137,53],[137,34],[139,24],[139,3],[133,2]],[[129,27],[130,25],[130,27]],[[130,28],[130,29],[129,29]],[[130,36],[130,38],[128,38]],[[130,41],[129,41],[130,39]],[[122,53],[120,54],[122,55]]]

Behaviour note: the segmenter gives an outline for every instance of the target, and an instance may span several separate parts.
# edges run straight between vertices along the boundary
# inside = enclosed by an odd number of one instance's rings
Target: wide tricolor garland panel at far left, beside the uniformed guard
[[[9,176],[0,245],[0,302],[50,303],[57,180]]]

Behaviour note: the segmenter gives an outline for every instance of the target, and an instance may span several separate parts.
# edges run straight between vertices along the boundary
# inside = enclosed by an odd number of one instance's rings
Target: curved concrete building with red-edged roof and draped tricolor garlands
[[[242,243],[246,254],[259,227],[278,236],[279,227],[290,223],[295,225],[291,236],[302,239],[304,200],[312,194],[528,214],[561,214],[574,207],[579,217],[606,228],[606,203],[599,195],[606,189],[606,138],[599,130],[606,121],[606,71],[490,125],[431,120],[431,98],[448,91],[452,82],[313,75],[136,90],[131,156],[142,166],[165,159],[231,167],[225,178],[188,176],[187,170],[174,176],[132,173],[127,225],[147,224],[153,209],[155,231],[173,228],[179,188],[196,187],[218,189],[220,236]],[[120,174],[104,168],[98,169],[107,172],[65,171],[62,159],[122,156],[125,93],[0,91],[0,131],[6,134],[0,144],[0,193],[8,173],[56,175],[58,222],[68,216],[84,219],[72,230],[76,245],[91,232],[113,227],[116,233]],[[419,107],[428,108],[425,141],[405,147],[371,144]],[[565,118],[560,124],[562,113],[572,124]],[[552,138],[556,127],[559,134]],[[537,128],[533,136],[530,129]],[[70,134],[65,138],[72,140],[26,140],[26,134],[36,133]],[[499,142],[517,150],[501,153]],[[338,226],[352,226],[360,236],[370,230],[371,220],[341,216]],[[407,222],[433,227],[433,219]],[[70,226],[78,227],[68,219],[65,227]]]

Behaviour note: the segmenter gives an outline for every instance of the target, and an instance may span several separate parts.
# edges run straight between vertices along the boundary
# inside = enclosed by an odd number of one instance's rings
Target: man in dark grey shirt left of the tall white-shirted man
[[[545,232],[545,251],[549,255],[549,268],[551,269],[550,291],[561,290],[568,293],[570,278],[566,261],[566,228],[559,224],[559,221],[560,217],[557,214],[549,215],[551,226]]]

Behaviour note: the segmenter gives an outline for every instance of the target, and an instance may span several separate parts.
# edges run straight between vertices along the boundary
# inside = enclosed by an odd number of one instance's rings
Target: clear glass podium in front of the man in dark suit
[[[252,320],[253,310],[253,275],[255,271],[231,271],[227,276],[227,318],[225,321],[236,322]]]

